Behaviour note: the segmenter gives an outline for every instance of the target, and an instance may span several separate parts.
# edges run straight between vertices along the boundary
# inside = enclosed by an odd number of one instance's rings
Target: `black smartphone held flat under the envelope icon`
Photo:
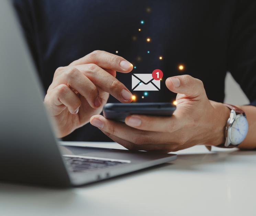
[[[149,116],[171,116],[176,106],[172,103],[110,103],[103,107],[103,115],[107,119],[124,121],[132,114]]]

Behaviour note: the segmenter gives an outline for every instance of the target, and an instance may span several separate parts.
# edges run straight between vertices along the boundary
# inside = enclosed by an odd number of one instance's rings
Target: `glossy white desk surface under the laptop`
[[[255,216],[256,152],[216,149],[195,146],[168,165],[74,189],[0,183],[0,215]]]

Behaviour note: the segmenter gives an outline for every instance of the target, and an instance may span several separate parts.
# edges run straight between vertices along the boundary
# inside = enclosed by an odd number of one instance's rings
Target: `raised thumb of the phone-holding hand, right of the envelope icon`
[[[203,82],[190,75],[168,77],[165,84],[170,91],[185,94],[189,97],[197,97],[205,94]]]

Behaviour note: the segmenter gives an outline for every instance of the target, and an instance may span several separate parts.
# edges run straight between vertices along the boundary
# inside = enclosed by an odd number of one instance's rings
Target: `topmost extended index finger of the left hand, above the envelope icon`
[[[121,56],[112,53],[95,50],[88,55],[73,61],[70,65],[97,64],[101,68],[111,69],[122,73],[128,73],[133,69],[133,65]]]

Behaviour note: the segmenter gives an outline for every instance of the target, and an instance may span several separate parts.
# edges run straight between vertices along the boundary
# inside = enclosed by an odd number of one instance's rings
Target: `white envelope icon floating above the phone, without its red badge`
[[[160,80],[154,80],[151,73],[132,74],[133,91],[159,91]]]

